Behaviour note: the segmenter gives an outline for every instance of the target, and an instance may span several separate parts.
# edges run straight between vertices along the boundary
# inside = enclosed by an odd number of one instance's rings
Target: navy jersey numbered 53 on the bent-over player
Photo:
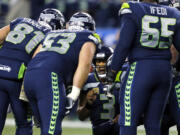
[[[40,52],[28,65],[27,70],[43,68],[61,75],[65,85],[72,85],[81,47],[93,42],[96,50],[100,47],[97,34],[91,31],[56,30],[49,32]]]

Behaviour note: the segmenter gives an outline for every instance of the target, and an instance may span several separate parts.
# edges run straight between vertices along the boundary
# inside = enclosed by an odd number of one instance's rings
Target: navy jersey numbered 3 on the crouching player
[[[90,112],[90,120],[93,126],[112,120],[119,114],[119,91],[114,90],[114,95],[108,97],[104,88],[105,85],[99,82],[94,73],[91,73],[82,90],[85,94],[89,90],[94,90],[97,93],[97,98],[92,104]]]

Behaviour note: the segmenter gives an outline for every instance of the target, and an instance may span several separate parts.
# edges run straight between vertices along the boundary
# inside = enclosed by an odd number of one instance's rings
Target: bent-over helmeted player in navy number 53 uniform
[[[70,18],[67,30],[51,31],[45,36],[28,64],[24,90],[40,122],[41,135],[61,135],[62,120],[78,99],[100,47],[94,31],[93,18],[78,12]],[[69,85],[72,91],[66,96]]]

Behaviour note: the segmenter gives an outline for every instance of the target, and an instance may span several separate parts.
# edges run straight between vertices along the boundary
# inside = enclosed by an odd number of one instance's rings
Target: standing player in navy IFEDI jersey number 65
[[[108,80],[128,56],[130,68],[120,94],[120,135],[136,135],[144,114],[147,135],[160,135],[160,121],[172,81],[170,46],[180,51],[180,13],[156,0],[123,3],[120,36]]]

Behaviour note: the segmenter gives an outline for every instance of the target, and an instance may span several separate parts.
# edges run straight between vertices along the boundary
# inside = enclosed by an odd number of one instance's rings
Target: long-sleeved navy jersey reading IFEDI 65
[[[164,5],[129,2],[122,4],[120,38],[116,46],[112,69],[118,71],[125,58],[170,60],[173,43],[180,51],[180,12]]]

